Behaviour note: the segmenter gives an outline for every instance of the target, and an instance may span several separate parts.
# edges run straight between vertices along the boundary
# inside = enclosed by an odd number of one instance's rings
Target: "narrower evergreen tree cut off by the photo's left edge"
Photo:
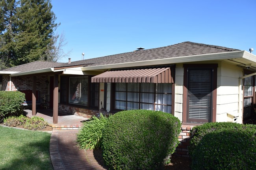
[[[15,56],[16,10],[15,0],[0,0],[0,69],[11,66]]]

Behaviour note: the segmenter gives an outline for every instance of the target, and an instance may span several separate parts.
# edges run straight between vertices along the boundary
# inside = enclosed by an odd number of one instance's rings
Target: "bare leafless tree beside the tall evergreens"
[[[64,33],[60,35],[56,34],[52,38],[52,42],[48,44],[46,49],[46,58],[41,58],[41,60],[58,62],[63,58],[69,56],[71,51],[67,53],[64,52],[63,47],[67,45]]]

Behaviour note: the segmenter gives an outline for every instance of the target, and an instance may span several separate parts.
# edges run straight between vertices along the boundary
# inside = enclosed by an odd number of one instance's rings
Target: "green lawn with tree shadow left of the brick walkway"
[[[0,126],[0,169],[53,170],[50,135]]]

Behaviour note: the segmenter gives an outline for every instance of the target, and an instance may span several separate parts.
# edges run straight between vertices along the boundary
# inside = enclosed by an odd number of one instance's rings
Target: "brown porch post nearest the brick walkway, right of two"
[[[54,90],[53,90],[53,123],[58,123],[58,98],[59,98],[59,86],[58,86],[59,75],[54,75]]]

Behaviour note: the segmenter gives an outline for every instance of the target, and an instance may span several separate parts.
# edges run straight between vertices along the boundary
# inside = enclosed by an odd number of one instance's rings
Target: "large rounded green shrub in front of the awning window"
[[[109,117],[103,158],[109,170],[156,170],[178,145],[180,120],[169,113],[128,110]]]

